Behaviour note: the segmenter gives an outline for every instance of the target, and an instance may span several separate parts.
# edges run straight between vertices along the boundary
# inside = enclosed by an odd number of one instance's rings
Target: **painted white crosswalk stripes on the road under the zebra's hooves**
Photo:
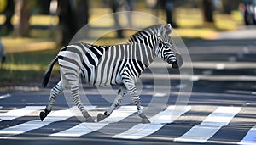
[[[89,111],[94,111],[100,107],[97,106],[85,106]],[[53,110],[44,121],[36,119],[36,114],[44,106],[25,106],[20,109],[10,109],[4,110],[1,106],[0,113],[0,138],[14,137],[16,135],[26,134],[29,131],[40,131],[47,125],[59,125],[61,123],[67,122],[71,118],[75,118],[76,114],[73,114],[71,109],[60,109]],[[102,109],[102,108],[101,108]],[[181,111],[177,118],[172,119],[170,114],[173,113],[175,106],[168,106],[165,110],[158,114],[154,114],[149,118],[150,124],[142,124],[139,121],[136,122],[125,122],[125,130],[120,130],[116,134],[109,135],[110,138],[119,139],[142,139],[145,137],[154,137],[155,132],[161,131],[161,129],[166,125],[172,125],[173,122],[179,120],[185,114],[193,111],[193,107],[186,106],[183,111]],[[204,120],[198,125],[191,126],[188,131],[184,131],[182,135],[177,135],[173,137],[173,142],[207,142],[211,137],[213,137],[218,131],[223,127],[228,126],[230,122],[236,118],[236,115],[241,112],[242,107],[234,106],[218,106],[212,110],[212,113],[206,114]],[[68,127],[63,127],[57,131],[49,131],[48,137],[84,137],[92,132],[101,131],[102,129],[108,127],[108,125],[114,125],[115,123],[120,123],[127,118],[134,117],[137,114],[137,109],[135,106],[121,106],[119,109],[113,111],[113,114],[107,119],[102,120],[97,123],[85,123],[79,120],[74,121],[73,125]],[[33,116],[33,118],[23,119],[27,116]],[[9,122],[13,120],[21,120],[17,124],[10,124]],[[127,121],[127,120],[126,120]],[[5,125],[1,125],[3,123]],[[175,125],[175,124],[174,124]],[[117,126],[118,127],[118,126]],[[113,128],[115,130],[117,128]],[[168,134],[164,135],[168,137]],[[242,137],[237,144],[256,144],[256,126],[252,126],[247,129],[247,133]]]

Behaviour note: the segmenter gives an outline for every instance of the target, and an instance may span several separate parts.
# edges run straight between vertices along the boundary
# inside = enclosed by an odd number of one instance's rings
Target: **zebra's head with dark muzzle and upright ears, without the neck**
[[[157,34],[158,40],[155,45],[155,54],[158,58],[172,64],[173,69],[178,69],[183,64],[183,58],[177,53],[177,47],[172,42],[171,36],[169,36],[171,31],[172,26],[170,24],[160,27],[160,31]]]

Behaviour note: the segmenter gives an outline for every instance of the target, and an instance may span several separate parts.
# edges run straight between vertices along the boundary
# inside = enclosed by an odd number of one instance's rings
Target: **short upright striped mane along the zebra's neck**
[[[128,40],[128,43],[133,42],[134,37],[141,36],[141,34],[145,34],[145,33],[147,33],[149,35],[156,34],[160,30],[160,26],[161,25],[151,25],[151,26],[148,26],[148,27],[144,28],[141,31],[137,31],[135,34],[130,36],[130,38]]]

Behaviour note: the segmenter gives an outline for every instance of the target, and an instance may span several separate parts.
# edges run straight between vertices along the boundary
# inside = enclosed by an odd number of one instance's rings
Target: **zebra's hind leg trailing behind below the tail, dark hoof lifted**
[[[54,86],[49,95],[49,101],[44,109],[44,111],[40,112],[39,116],[40,119],[43,121],[45,117],[50,113],[53,104],[55,103],[55,99],[58,97],[58,95],[63,92],[64,87],[62,81],[59,81],[56,86]]]

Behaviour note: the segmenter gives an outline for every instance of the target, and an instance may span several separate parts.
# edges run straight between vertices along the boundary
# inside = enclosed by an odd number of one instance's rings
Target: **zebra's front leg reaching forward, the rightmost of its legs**
[[[143,109],[141,107],[141,99],[137,95],[135,80],[130,77],[123,77],[123,82],[125,84],[126,89],[128,90],[128,92],[131,95],[131,99],[132,99],[133,103],[135,103],[135,105],[137,106],[138,116],[142,118],[142,122],[144,124],[150,123],[150,120],[148,120],[148,117],[144,114]]]

